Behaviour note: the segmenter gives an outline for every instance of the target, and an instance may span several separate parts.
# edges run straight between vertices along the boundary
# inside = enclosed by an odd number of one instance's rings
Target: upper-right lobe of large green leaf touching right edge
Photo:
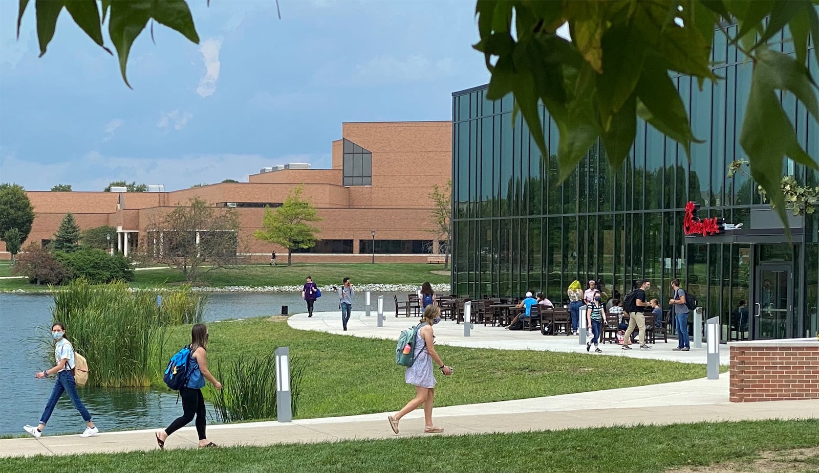
[[[754,80],[762,81],[765,87],[786,90],[803,103],[814,119],[819,119],[811,74],[803,63],[782,52],[761,47],[756,54],[757,64],[754,67]]]

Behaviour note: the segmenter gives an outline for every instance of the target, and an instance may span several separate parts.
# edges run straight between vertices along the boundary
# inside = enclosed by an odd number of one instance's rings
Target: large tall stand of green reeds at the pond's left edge
[[[163,296],[161,308],[157,294]],[[202,295],[189,288],[129,291],[124,282],[77,280],[54,293],[52,321],[66,324],[69,340],[88,359],[89,386],[140,387],[151,385],[165,367],[166,327],[200,321],[203,306]]]

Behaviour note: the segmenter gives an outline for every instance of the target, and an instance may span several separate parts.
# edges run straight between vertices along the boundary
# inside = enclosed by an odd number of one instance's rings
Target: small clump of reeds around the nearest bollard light
[[[290,359],[290,392],[293,418],[298,412],[301,380],[307,364]],[[222,382],[222,390],[208,385],[209,398],[215,417],[221,422],[250,421],[276,418],[276,356],[274,353],[258,358],[238,359],[223,369],[215,363],[215,376]]]

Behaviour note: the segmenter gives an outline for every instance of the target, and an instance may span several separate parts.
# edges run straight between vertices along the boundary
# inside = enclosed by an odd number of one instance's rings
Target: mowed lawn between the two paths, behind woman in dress
[[[269,354],[280,346],[289,346],[293,358],[305,360],[308,366],[299,397],[301,418],[397,410],[415,393],[404,382],[404,368],[395,363],[393,340],[299,331],[287,322],[271,322],[269,318],[215,322],[208,327],[211,366],[217,360],[224,366],[238,358]],[[169,328],[163,359],[190,343],[190,330],[190,326]],[[438,377],[437,406],[608,390],[706,375],[704,365],[691,363],[444,345],[436,348],[444,362],[455,367],[454,376]]]

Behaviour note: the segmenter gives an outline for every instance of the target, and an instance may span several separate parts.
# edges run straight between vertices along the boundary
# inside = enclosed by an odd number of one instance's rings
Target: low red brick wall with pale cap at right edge
[[[728,344],[732,403],[819,399],[819,341],[815,338]]]

